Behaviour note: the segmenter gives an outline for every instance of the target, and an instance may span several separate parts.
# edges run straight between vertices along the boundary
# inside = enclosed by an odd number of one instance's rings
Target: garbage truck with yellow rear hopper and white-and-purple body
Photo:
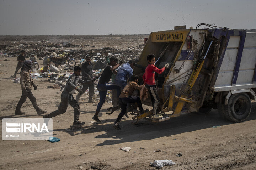
[[[142,115],[133,110],[134,124],[140,119],[160,122],[212,109],[233,122],[249,117],[251,100],[256,99],[256,32],[226,27],[151,32],[138,64],[146,67],[151,53],[158,68],[171,64],[164,73],[155,75],[161,110],[166,115],[151,120],[152,110]],[[134,68],[134,74],[142,73]],[[150,98],[143,104],[152,106]]]

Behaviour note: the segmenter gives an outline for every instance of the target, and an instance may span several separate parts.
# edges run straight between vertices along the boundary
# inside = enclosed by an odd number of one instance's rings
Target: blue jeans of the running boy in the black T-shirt
[[[107,85],[107,84],[100,84],[100,83],[98,83],[97,87],[100,94],[100,102],[98,103],[96,111],[100,112],[102,105],[105,103],[107,91],[116,89],[117,94],[120,95],[120,87],[115,85]]]

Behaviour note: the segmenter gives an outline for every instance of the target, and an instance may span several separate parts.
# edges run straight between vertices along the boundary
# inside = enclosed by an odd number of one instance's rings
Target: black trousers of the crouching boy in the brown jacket
[[[118,115],[118,118],[115,123],[120,122],[123,115],[126,113],[126,107],[128,103],[137,103],[139,110],[143,111],[141,100],[138,96],[128,96],[125,98],[119,98],[119,104],[121,106],[121,112]]]

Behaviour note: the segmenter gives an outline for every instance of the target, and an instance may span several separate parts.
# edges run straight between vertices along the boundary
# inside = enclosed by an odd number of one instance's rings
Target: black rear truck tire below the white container
[[[251,100],[246,93],[233,94],[228,100],[228,105],[222,104],[221,107],[226,119],[242,122],[247,120],[251,113]]]

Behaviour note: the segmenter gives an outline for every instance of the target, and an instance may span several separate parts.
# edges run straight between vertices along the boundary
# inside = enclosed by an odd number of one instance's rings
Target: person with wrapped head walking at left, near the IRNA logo
[[[41,115],[47,112],[47,111],[43,111],[37,106],[36,97],[34,97],[34,95],[32,94],[32,91],[31,91],[32,86],[34,87],[34,90],[37,90],[37,86],[34,84],[33,80],[31,79],[31,75],[30,75],[31,67],[32,67],[31,60],[26,60],[23,62],[23,66],[21,68],[21,76],[20,76],[22,95],[21,95],[20,101],[18,101],[16,110],[15,110],[15,115],[25,114],[25,112],[21,112],[21,106],[23,103],[25,103],[25,101],[27,100],[27,97],[30,99],[38,115]]]

